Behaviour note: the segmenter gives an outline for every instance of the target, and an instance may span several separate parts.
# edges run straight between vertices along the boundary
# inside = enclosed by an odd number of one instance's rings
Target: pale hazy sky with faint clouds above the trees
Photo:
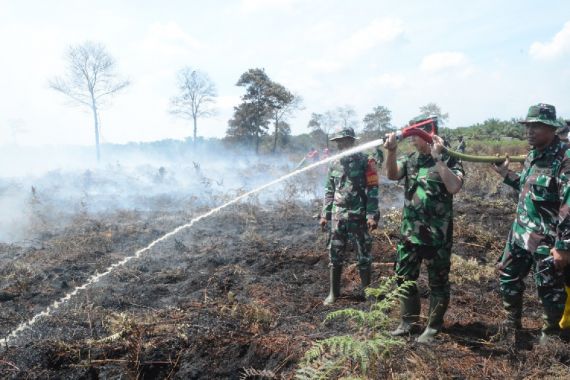
[[[570,118],[570,2],[560,1],[6,1],[0,0],[0,145],[93,144],[92,116],[48,88],[71,44],[102,43],[132,85],[101,113],[102,141],[191,135],[168,113],[176,73],[207,72],[219,114],[198,135],[222,137],[243,88],[265,68],[304,98],[290,120],[350,105],[395,125],[436,102],[450,126],[525,115],[540,101]]]

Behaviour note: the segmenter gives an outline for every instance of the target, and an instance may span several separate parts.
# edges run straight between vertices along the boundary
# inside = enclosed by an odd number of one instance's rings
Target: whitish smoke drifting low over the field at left
[[[216,144],[193,149],[175,141],[103,145],[102,155],[97,164],[92,147],[3,148],[0,242],[55,234],[80,213],[172,212],[188,204],[213,208],[295,166],[284,156],[256,156]],[[301,193],[313,196],[317,182]],[[259,199],[281,195],[282,187],[275,187]]]

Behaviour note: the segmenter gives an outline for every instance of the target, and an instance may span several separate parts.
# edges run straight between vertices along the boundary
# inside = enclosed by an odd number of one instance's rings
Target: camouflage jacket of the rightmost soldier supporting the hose
[[[504,183],[519,191],[509,241],[530,252],[570,250],[570,150],[555,137],[544,151],[529,152],[520,173]]]

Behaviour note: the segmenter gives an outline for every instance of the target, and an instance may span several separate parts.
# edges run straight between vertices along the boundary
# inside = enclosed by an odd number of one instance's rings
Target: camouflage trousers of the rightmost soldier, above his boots
[[[522,298],[525,290],[524,279],[533,269],[534,282],[543,307],[545,310],[562,313],[566,302],[564,276],[562,273],[539,268],[541,260],[549,256],[550,247],[548,246],[540,246],[536,252],[531,253],[516,244],[507,242],[502,256],[497,261],[503,298]]]

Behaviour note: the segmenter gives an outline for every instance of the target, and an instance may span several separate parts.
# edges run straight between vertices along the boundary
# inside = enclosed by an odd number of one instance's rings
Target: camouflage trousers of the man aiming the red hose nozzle
[[[449,299],[451,244],[431,247],[404,242],[398,244],[396,252],[396,275],[400,277],[400,281],[416,281],[420,276],[422,261],[425,261],[431,295],[439,299]]]

